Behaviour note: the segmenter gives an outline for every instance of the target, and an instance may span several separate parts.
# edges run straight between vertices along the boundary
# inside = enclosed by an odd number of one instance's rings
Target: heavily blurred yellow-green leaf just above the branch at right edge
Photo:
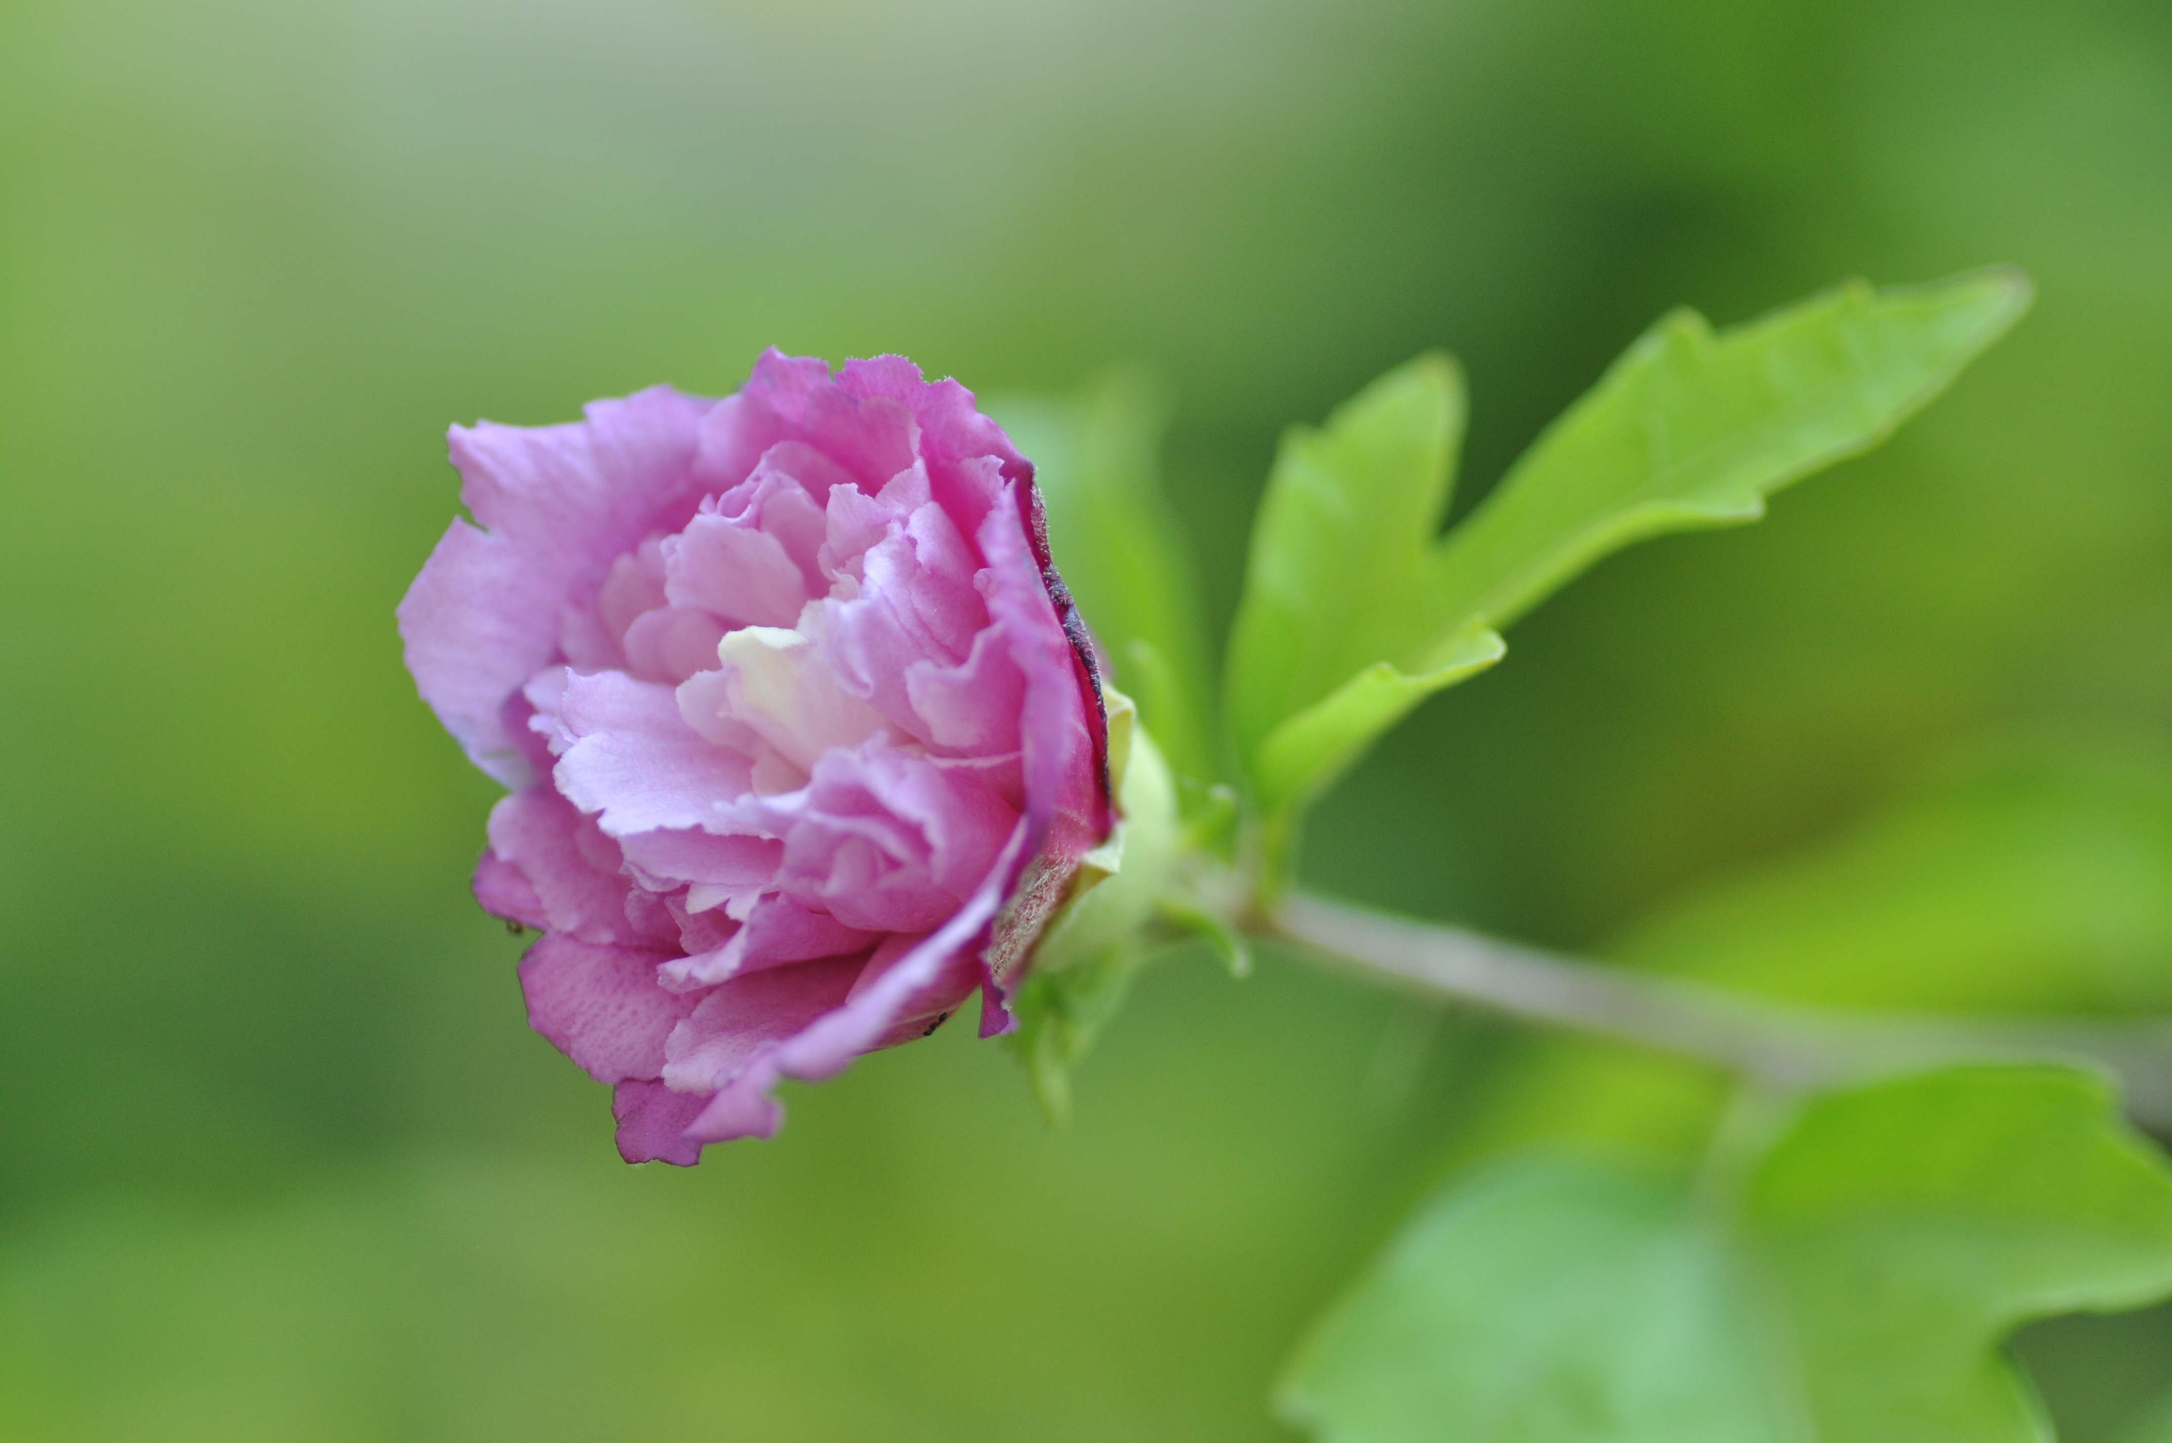
[[[1985,752],[1609,948],[1790,1002],[2172,1011],[2172,754]]]

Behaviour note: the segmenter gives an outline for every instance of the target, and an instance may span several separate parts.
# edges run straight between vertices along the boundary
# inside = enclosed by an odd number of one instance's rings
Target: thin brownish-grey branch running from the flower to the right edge
[[[1788,1091],[1946,1063],[2094,1063],[2120,1076],[2129,1117],[2172,1128],[2172,1019],[2165,1017],[2009,1019],[1794,1006],[1310,893],[1277,902],[1262,930],[1457,1002],[1675,1052]]]

